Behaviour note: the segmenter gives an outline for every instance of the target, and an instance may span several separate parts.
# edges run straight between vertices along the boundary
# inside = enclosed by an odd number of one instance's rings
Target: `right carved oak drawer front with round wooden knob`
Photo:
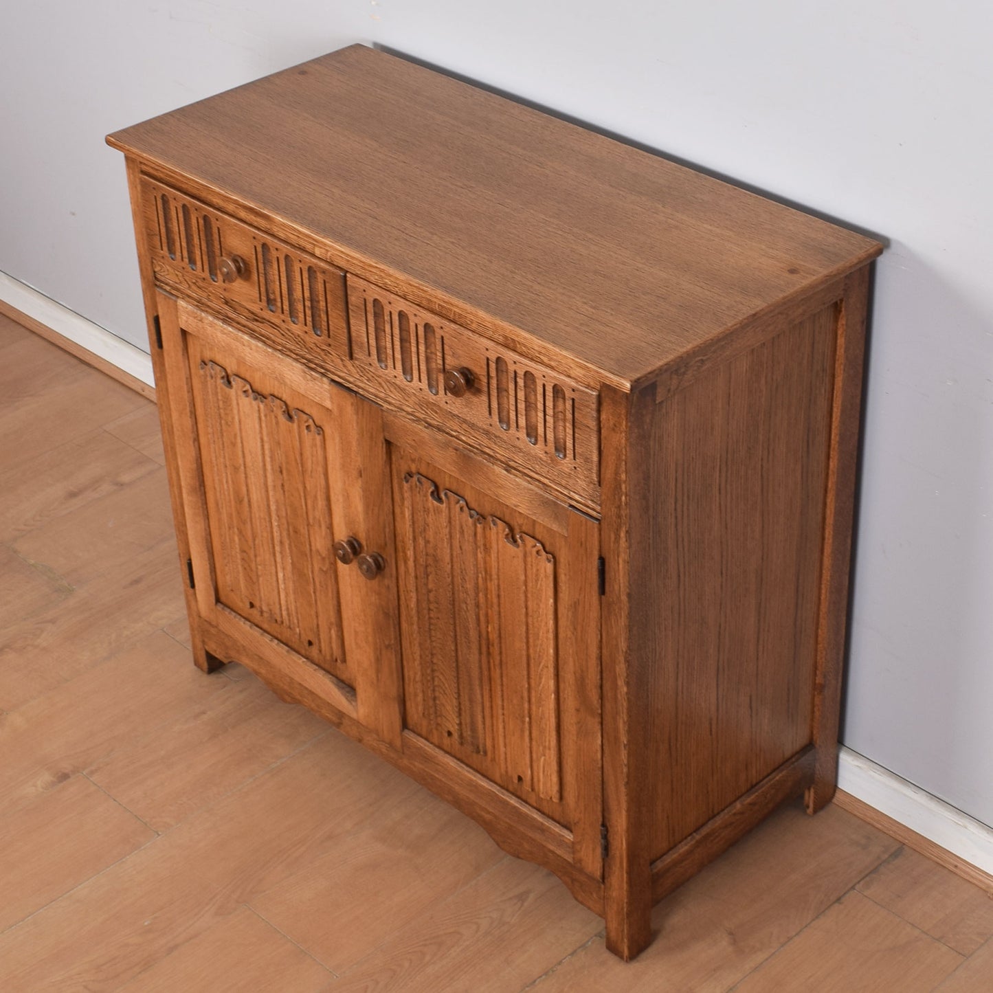
[[[363,279],[348,276],[350,377],[592,509],[597,393]]]

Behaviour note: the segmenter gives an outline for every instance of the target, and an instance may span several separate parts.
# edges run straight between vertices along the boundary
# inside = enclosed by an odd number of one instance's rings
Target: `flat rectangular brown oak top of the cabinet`
[[[108,142],[619,384],[650,378],[881,250],[357,45]]]

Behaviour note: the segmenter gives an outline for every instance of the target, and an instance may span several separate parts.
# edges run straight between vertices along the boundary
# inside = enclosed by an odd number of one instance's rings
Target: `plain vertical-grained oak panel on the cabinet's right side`
[[[837,326],[832,304],[646,426],[654,858],[811,740]]]

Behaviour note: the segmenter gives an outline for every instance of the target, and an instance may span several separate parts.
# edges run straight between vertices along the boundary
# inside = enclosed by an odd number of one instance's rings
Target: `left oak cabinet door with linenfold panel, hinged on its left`
[[[157,298],[196,582],[192,622],[205,643],[219,640],[231,658],[240,648],[284,691],[317,691],[398,742],[378,408],[168,294]],[[335,543],[350,539],[345,564]],[[359,572],[361,554],[375,556],[372,582]]]

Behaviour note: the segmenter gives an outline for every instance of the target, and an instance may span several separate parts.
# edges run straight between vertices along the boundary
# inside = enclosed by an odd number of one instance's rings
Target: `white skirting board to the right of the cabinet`
[[[993,875],[993,828],[844,746],[838,788]]]

